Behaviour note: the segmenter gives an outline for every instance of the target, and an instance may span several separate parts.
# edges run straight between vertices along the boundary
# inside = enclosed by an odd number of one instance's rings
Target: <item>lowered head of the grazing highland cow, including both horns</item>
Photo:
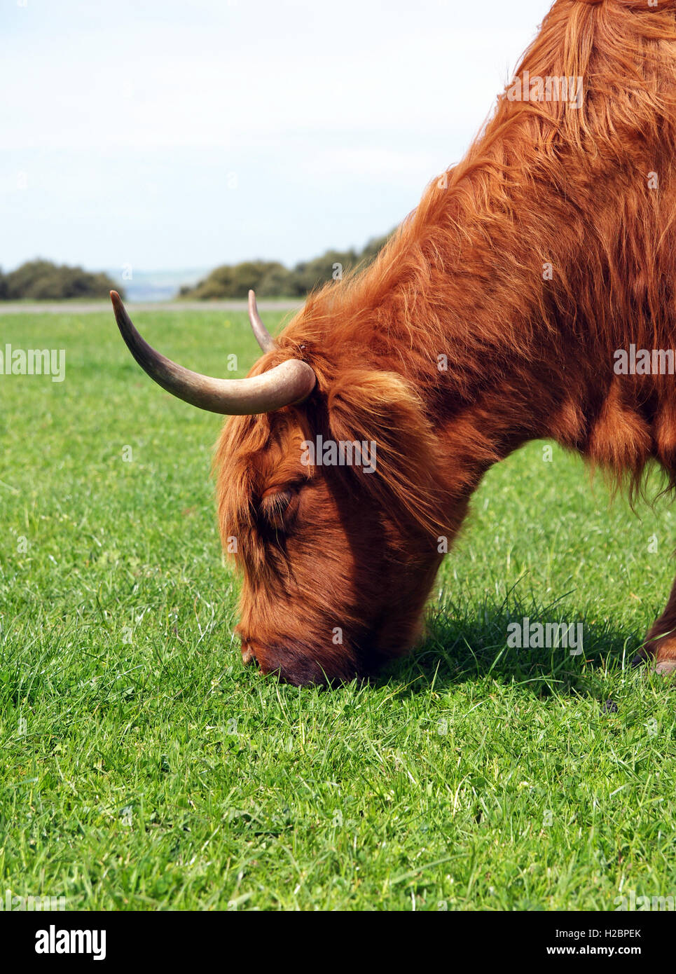
[[[155,381],[233,416],[218,444],[217,494],[223,544],[244,573],[244,662],[322,684],[369,675],[409,649],[444,549],[439,536],[454,534],[465,514],[444,496],[419,396],[394,373],[342,368],[283,339],[278,347],[253,292],[249,317],[265,356],[241,380],[170,362],[143,341],[115,292],[113,305]]]

